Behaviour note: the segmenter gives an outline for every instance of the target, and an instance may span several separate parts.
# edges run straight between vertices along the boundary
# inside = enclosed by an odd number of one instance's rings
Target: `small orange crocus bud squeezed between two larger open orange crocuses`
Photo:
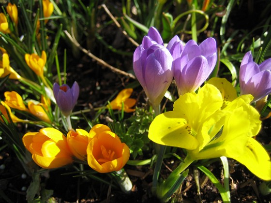
[[[89,132],[76,129],[67,134],[67,143],[74,156],[79,160],[87,160],[87,146],[89,144]]]

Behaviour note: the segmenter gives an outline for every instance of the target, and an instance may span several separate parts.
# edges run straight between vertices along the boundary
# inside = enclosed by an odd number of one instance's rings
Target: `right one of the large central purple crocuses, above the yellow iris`
[[[178,49],[181,50],[180,47]],[[179,95],[200,87],[214,69],[216,60],[216,42],[213,38],[204,40],[200,45],[194,40],[188,41],[181,50],[181,56],[172,63]]]

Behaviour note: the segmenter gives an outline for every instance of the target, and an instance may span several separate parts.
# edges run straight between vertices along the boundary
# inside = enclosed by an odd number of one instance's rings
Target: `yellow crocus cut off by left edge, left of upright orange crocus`
[[[21,76],[15,72],[15,70],[10,66],[9,56],[7,53],[3,53],[2,60],[0,61],[0,77],[5,77],[9,75],[9,79],[18,80]]]

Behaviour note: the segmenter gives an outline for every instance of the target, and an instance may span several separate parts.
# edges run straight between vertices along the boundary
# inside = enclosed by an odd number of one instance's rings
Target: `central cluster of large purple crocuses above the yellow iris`
[[[173,78],[179,95],[195,91],[216,64],[216,42],[208,38],[199,46],[190,40],[183,46],[178,36],[164,46],[157,29],[151,27],[135,49],[133,64],[139,83],[153,106],[158,106]]]

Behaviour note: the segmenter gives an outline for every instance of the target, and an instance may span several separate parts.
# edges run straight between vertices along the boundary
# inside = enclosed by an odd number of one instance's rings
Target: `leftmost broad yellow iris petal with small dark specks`
[[[155,117],[149,129],[149,138],[160,145],[196,149],[197,139],[191,134],[191,126],[179,112],[166,112]]]

